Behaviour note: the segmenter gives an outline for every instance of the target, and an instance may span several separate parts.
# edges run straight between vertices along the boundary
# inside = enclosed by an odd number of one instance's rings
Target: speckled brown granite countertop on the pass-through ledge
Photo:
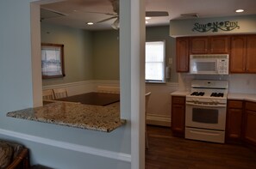
[[[126,120],[120,118],[119,103],[109,106],[90,106],[55,102],[45,106],[8,112],[7,117],[104,132],[115,130],[126,123]]]

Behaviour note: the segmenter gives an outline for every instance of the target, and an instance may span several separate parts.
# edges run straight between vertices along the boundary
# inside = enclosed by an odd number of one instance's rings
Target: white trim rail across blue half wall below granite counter
[[[63,148],[71,151],[77,151],[84,154],[92,154],[92,155],[102,156],[109,159],[131,162],[131,154],[123,154],[123,153],[103,150],[99,148],[91,148],[91,147],[73,144],[69,142],[60,142],[52,139],[43,138],[40,136],[31,136],[31,135],[19,133],[16,131],[10,131],[10,130],[0,129],[0,134],[4,136],[16,137],[29,142],[41,143],[41,144],[45,144],[47,146],[53,146],[56,148]]]

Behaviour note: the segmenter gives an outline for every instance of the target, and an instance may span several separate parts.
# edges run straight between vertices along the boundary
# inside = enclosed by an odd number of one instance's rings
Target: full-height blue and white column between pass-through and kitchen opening
[[[121,112],[122,118],[130,118],[133,169],[145,168],[144,3],[144,0],[120,1]],[[127,111],[131,117],[123,117]]]

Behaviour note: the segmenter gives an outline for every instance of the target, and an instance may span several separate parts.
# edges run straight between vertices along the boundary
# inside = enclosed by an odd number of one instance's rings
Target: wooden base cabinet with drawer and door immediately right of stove
[[[242,136],[243,101],[228,100],[226,142],[240,143]]]

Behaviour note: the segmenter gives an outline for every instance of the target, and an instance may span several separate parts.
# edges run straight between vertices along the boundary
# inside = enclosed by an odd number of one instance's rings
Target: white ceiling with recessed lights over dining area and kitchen
[[[147,26],[168,25],[170,20],[184,19],[181,14],[197,13],[199,18],[231,15],[256,14],[256,0],[145,0],[146,11],[168,11],[169,16],[153,17]],[[66,0],[59,3],[41,5],[43,9],[50,9],[65,15],[44,15],[44,22],[77,27],[88,30],[111,29],[112,19],[88,26],[88,21],[102,21],[111,15],[101,14],[113,12],[110,0]],[[237,14],[235,9],[245,9]],[[96,13],[95,13],[96,12]]]

